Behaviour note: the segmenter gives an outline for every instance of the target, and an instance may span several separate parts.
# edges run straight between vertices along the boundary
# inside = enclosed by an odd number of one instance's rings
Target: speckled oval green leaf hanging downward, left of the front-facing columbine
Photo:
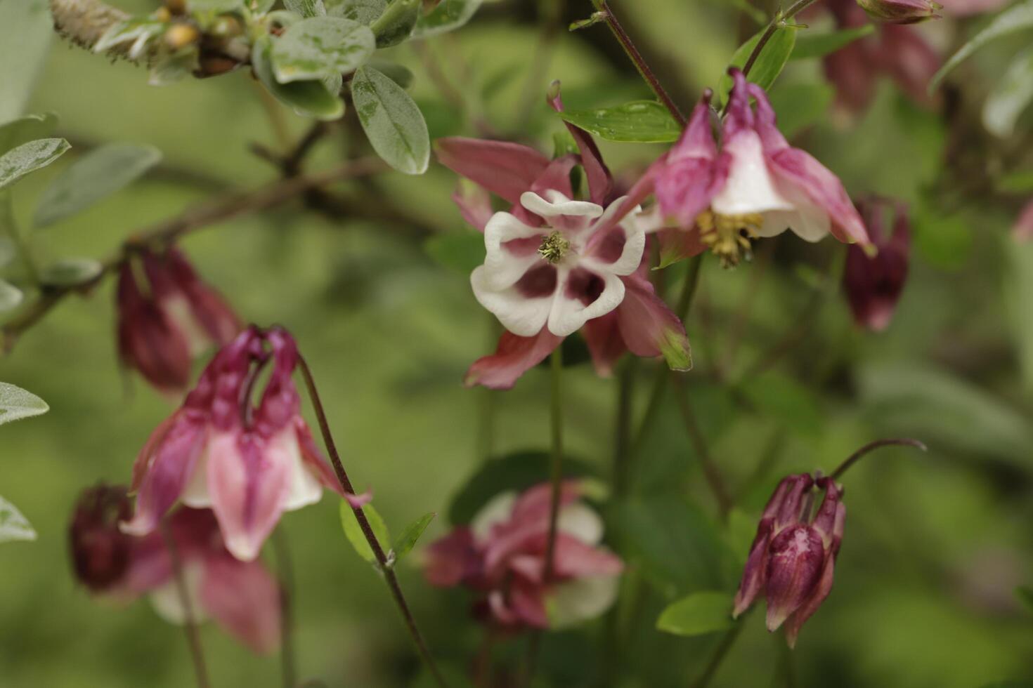
[[[427,171],[427,122],[402,87],[372,67],[359,67],[351,79],[351,98],[366,136],[384,162],[406,174]]]

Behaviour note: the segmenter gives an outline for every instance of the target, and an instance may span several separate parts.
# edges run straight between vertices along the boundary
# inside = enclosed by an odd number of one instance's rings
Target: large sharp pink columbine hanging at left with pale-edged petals
[[[267,364],[255,405],[252,388]],[[324,487],[341,492],[301,416],[296,364],[294,340],[280,328],[252,326],[223,347],[136,458],[136,512],[124,529],[151,532],[177,500],[211,507],[226,548],[250,561],[283,512],[319,501]]]

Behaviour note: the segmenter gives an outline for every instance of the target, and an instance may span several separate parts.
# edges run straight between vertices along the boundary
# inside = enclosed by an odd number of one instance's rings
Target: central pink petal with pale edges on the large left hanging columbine
[[[279,443],[277,443],[279,445]],[[290,490],[291,457],[254,433],[220,433],[209,444],[208,489],[226,549],[258,556]]]

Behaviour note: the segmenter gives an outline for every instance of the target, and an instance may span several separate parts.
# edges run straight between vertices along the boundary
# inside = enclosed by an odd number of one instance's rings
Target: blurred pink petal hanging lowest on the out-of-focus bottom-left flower
[[[228,633],[258,654],[280,646],[280,586],[257,561],[228,555],[206,561],[200,603]]]

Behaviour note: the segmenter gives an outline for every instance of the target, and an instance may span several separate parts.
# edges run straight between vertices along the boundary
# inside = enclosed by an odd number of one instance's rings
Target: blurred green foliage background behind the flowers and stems
[[[148,0],[115,4],[155,7]],[[591,11],[587,1],[569,5],[571,17]],[[683,108],[716,83],[740,39],[755,30],[748,22],[740,26],[735,8],[720,0],[617,5],[660,59]],[[946,46],[968,30],[944,22],[930,34]],[[442,97],[411,44],[389,57],[414,72],[411,93],[432,137],[472,134],[470,112],[482,112],[496,130],[550,150],[551,133],[562,127],[538,103],[553,78],[562,79],[568,105],[648,95],[602,27],[559,31],[547,68],[529,84],[539,33],[533,3],[494,2],[470,26],[427,43],[463,95],[466,113]],[[1009,47],[966,66],[959,80],[968,101],[978,102],[979,75],[999,71]],[[773,97],[821,78],[813,61],[792,63]],[[795,108],[820,112],[812,91],[803,101],[783,98],[782,117]],[[527,94],[534,104],[526,108]],[[144,181],[39,231],[35,240],[45,256],[106,256],[134,230],[220,190],[276,175],[249,152],[252,142],[276,146],[277,139],[246,70],[156,89],[144,70],[55,38],[28,111],[57,112],[60,135],[74,148],[19,186],[22,219],[76,152],[131,141],[164,154],[163,165]],[[280,117],[294,136],[307,129],[285,109]],[[347,127],[336,130],[309,169],[335,164],[348,140]],[[619,685],[690,685],[721,635],[660,633],[659,610],[695,590],[734,588],[754,519],[782,474],[828,471],[859,445],[897,434],[924,439],[930,452],[885,450],[848,476],[836,585],[791,659],[781,636],[770,636],[762,615],[754,614],[712,685],[978,688],[1033,680],[1033,610],[1014,592],[1033,584],[1033,243],[1019,245],[1007,234],[1018,206],[956,191],[944,167],[947,119],[913,105],[889,83],[867,114],[847,120],[828,111],[797,144],[839,173],[851,193],[911,204],[910,281],[891,327],[874,335],[853,326],[837,285],[820,276],[844,251],[832,239],[803,245],[786,234],[771,242],[770,256],[733,271],[705,263],[687,323],[696,367],[685,380],[739,511],[730,531],[716,523],[697,457],[668,399],[637,464],[636,493],[605,510],[619,535],[613,544],[631,564],[628,587],[643,601],[637,612],[622,601]],[[602,149],[618,172],[663,150]],[[973,169],[962,173],[985,167]],[[478,419],[486,405],[494,414],[493,456],[547,448],[549,381],[536,369],[511,392],[462,387],[466,366],[494,346],[495,329],[466,275],[436,264],[412,238],[413,228],[472,231],[449,200],[455,177],[432,165],[421,177],[382,174],[374,184],[338,191],[365,215],[386,206],[408,220],[331,222],[294,204],[197,232],[183,247],[244,318],[294,333],[352,479],[374,489],[377,509],[396,531],[438,512],[426,544],[445,532],[450,497],[482,460]],[[672,284],[681,269],[668,271]],[[120,372],[109,283],[88,298],[67,299],[0,363],[5,382],[51,404],[48,415],[0,430],[0,494],[39,532],[36,543],[0,547],[4,688],[192,685],[180,629],[146,601],[120,607],[92,599],[70,576],[65,526],[77,493],[99,480],[127,482],[137,450],[173,408],[137,376]],[[812,317],[772,370],[731,384]],[[636,413],[655,365],[644,361],[635,369]],[[564,384],[569,453],[607,476],[616,385],[586,364],[569,368]],[[289,514],[281,527],[295,557],[302,676],[334,688],[417,685],[418,665],[400,620],[377,576],[341,536],[335,500]],[[414,566],[400,575],[436,655],[463,673],[480,643],[469,598],[431,589]],[[542,685],[596,685],[604,670],[603,633],[600,621],[546,635]],[[202,637],[215,686],[278,685],[276,657],[255,658],[211,625]],[[510,638],[497,657],[509,661],[522,651],[523,640]]]

